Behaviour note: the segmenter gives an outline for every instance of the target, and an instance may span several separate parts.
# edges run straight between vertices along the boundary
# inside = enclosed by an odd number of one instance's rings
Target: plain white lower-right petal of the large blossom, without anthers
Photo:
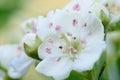
[[[73,70],[78,72],[91,70],[100,58],[104,49],[104,41],[98,41],[95,44],[88,45],[83,51],[81,51],[80,55],[73,63]]]

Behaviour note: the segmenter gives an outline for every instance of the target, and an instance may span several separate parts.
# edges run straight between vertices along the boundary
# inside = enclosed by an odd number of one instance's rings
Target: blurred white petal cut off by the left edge
[[[3,45],[0,46],[0,65],[8,69],[10,62],[17,55],[17,45]]]

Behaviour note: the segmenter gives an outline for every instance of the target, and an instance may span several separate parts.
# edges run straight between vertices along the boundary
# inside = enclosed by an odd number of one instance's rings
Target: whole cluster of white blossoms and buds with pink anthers
[[[108,2],[72,0],[46,17],[25,21],[21,42],[0,46],[0,74],[21,78],[36,61],[35,70],[55,80],[68,78],[73,70],[94,69],[106,47],[105,27],[111,26],[113,10],[120,11]]]

